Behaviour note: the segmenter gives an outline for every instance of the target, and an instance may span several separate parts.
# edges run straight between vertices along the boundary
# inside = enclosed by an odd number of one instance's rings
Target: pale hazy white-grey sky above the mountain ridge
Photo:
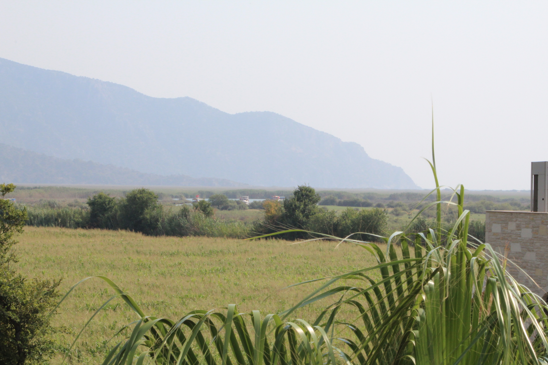
[[[0,1],[0,57],[283,114],[424,188],[433,99],[442,184],[529,189],[548,160],[547,19],[526,1]]]

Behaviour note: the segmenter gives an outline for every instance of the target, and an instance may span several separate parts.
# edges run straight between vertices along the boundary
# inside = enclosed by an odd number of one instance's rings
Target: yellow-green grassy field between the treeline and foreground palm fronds
[[[19,241],[16,265],[22,274],[62,278],[61,293],[84,277],[104,275],[147,315],[174,319],[194,309],[230,303],[241,311],[280,312],[314,286],[283,287],[376,263],[366,250],[349,244],[335,248],[336,242],[290,245],[281,240],[147,237],[126,231],[35,227],[26,227]],[[99,279],[84,282],[71,294],[54,319],[67,325],[66,333],[56,338],[61,350],[112,295]],[[315,318],[327,304],[304,308],[295,317]],[[121,300],[113,300],[78,340],[70,361],[99,363],[106,351],[104,340],[135,319]],[[54,358],[52,364],[61,359]]]

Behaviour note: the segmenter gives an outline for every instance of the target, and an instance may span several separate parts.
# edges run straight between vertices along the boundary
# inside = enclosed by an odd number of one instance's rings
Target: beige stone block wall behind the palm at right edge
[[[487,211],[485,223],[486,242],[519,265],[540,288],[507,265],[512,276],[540,296],[548,292],[548,213]]]

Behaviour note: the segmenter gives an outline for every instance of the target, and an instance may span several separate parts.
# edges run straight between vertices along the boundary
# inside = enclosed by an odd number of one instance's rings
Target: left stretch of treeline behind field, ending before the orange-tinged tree
[[[53,205],[53,204],[49,204]],[[135,189],[124,198],[98,193],[88,198],[87,206],[27,207],[27,225],[37,227],[127,229],[146,235],[216,236],[241,238],[250,227],[242,222],[213,218],[213,207],[201,201],[192,208],[166,209],[158,195],[149,189]]]

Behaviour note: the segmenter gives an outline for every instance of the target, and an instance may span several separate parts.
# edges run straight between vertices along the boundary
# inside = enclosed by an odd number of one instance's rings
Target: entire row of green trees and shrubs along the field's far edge
[[[253,202],[250,207],[264,209],[264,218],[253,223],[241,221],[224,221],[214,218],[214,207],[220,210],[247,209],[248,206],[238,200],[230,200],[222,194],[210,196],[209,201],[201,200],[193,205],[180,208],[166,207],[158,202],[158,195],[149,189],[131,190],[124,197],[98,193],[88,198],[84,204],[75,200],[68,204],[59,201],[45,200],[41,204],[25,207],[27,225],[37,227],[65,228],[101,228],[125,229],[146,235],[170,236],[218,236],[242,238],[274,233],[284,229],[302,229],[335,237],[352,237],[360,240],[378,240],[388,229],[388,215],[385,205],[358,210],[360,201],[352,202],[343,212],[328,210],[318,203],[326,199],[307,186],[299,186],[284,201],[265,200]],[[349,204],[346,200],[346,204]],[[337,201],[339,202],[339,201]],[[345,202],[345,200],[343,200]],[[477,209],[491,207],[485,201],[472,202]],[[479,204],[482,204],[481,207]],[[509,203],[503,203],[509,204]],[[333,204],[330,204],[333,205]],[[402,215],[410,210],[411,204],[404,202],[387,202],[392,215]],[[369,205],[370,206],[370,205]],[[471,211],[474,211],[470,208]],[[451,210],[445,210],[447,227],[455,217]],[[432,214],[424,212],[424,218],[415,221],[409,233],[424,231],[433,227]],[[473,223],[479,224],[479,223]],[[474,226],[476,227],[476,226]],[[476,230],[473,230],[476,229]],[[474,234],[484,237],[483,227],[473,228]],[[356,234],[357,233],[357,234]],[[309,233],[292,232],[279,236],[285,239],[304,239]]]

